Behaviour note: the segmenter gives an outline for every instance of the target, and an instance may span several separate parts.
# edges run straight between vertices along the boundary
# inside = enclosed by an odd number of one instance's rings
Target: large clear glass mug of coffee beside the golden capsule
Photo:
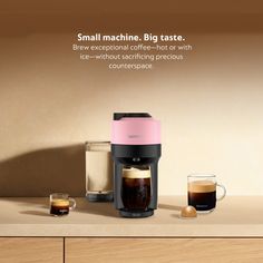
[[[221,201],[226,195],[223,185],[216,182],[215,175],[194,174],[188,175],[188,205],[194,206],[197,213],[210,213],[214,211],[216,201]],[[221,187],[223,193],[216,196],[216,187]]]

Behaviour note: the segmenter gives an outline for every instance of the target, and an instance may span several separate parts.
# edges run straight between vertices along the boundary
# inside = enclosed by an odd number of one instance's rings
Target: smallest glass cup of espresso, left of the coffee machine
[[[50,195],[50,214],[53,216],[68,215],[69,210],[76,207],[76,201],[65,193],[53,193]]]

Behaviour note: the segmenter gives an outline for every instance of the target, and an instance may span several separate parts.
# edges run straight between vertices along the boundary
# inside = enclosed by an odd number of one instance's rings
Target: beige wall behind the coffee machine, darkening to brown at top
[[[213,173],[231,195],[261,195],[263,21],[256,6],[113,4],[103,6],[103,17],[98,3],[89,3],[51,11],[28,1],[1,10],[0,195],[84,195],[81,144],[109,139],[111,114],[121,110],[162,120],[160,194],[184,194],[187,174]],[[110,71],[71,51],[80,28],[179,31],[194,51],[152,71]]]

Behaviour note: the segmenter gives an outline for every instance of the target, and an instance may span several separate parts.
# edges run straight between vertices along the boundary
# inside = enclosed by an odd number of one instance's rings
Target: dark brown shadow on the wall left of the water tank
[[[38,149],[0,160],[0,196],[85,196],[85,145]]]

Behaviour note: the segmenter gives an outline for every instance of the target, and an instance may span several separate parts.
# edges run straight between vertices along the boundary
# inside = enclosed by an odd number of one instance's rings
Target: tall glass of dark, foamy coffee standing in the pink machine
[[[149,168],[125,168],[123,171],[121,198],[127,211],[143,212],[150,202]]]

